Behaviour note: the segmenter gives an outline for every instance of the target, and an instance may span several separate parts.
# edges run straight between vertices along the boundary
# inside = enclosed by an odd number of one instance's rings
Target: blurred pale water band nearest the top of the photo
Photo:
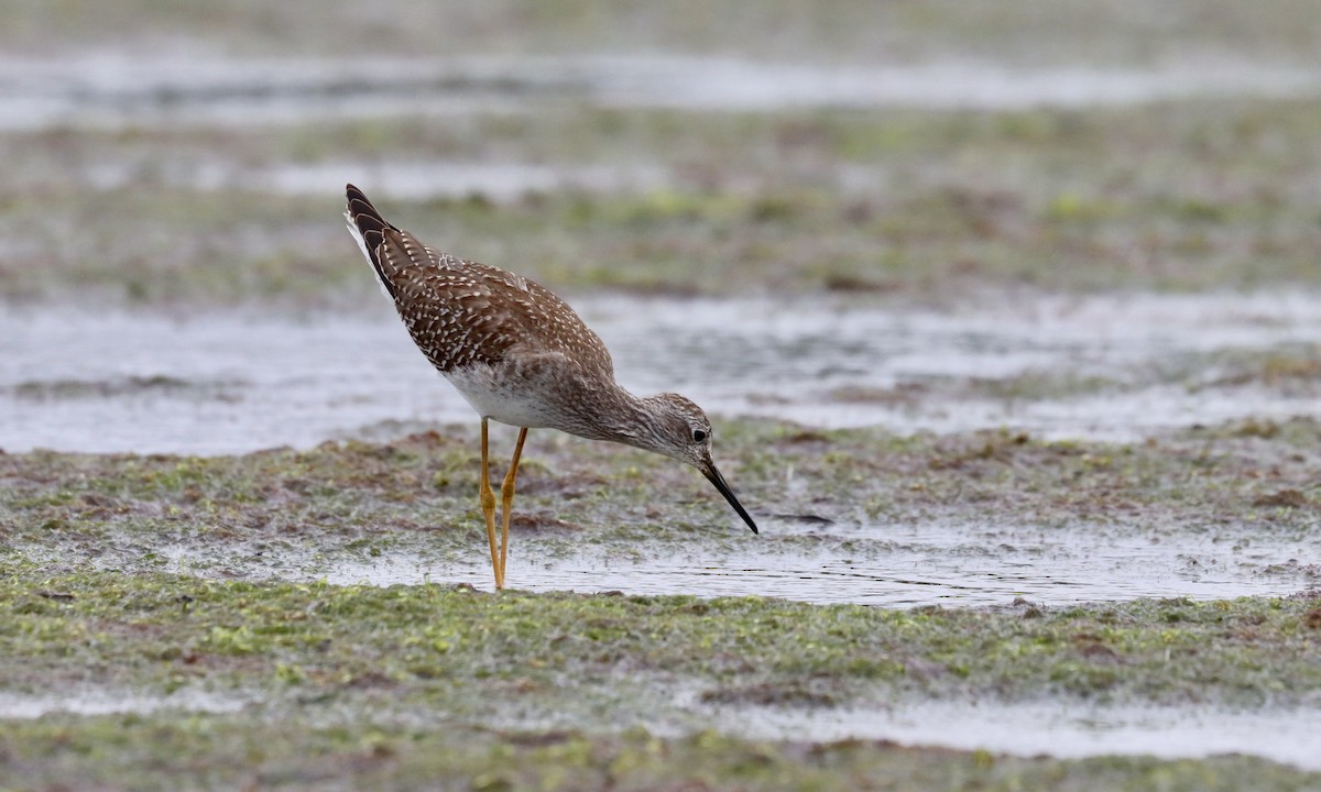
[[[1197,95],[1316,95],[1314,69],[1170,62],[1149,70],[1013,69],[971,61],[823,67],[687,55],[460,59],[0,59],[0,128],[305,123],[386,115],[600,107],[1022,108]]]

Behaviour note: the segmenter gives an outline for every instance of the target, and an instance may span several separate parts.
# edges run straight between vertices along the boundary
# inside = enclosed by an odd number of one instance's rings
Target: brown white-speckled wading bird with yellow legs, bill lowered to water
[[[361,190],[347,185],[346,193],[349,231],[417,348],[482,417],[483,461],[486,420],[523,428],[506,479],[506,532],[527,428],[622,442],[687,462],[757,531],[711,461],[711,422],[696,404],[676,393],[629,393],[614,381],[610,352],[600,337],[550,289],[437,253],[387,223]],[[486,511],[486,491],[482,496]],[[486,516],[490,532],[493,517]],[[501,587],[503,561],[494,557],[494,537],[491,548]]]

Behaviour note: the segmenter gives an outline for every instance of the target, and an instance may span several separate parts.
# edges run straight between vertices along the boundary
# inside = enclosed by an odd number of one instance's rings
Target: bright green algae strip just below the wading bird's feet
[[[573,698],[614,700],[641,680],[699,690],[707,702],[793,706],[896,696],[1321,702],[1314,595],[889,611],[52,574],[24,564],[3,574],[5,678],[29,692],[92,680],[159,692],[296,689],[318,700],[367,689],[452,713],[502,697],[572,713]]]

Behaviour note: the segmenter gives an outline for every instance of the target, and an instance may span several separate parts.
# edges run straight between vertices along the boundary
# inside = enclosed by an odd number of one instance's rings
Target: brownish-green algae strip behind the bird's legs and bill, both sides
[[[505,440],[497,436],[497,458]],[[1321,523],[1306,453],[1317,444],[1321,424],[1309,418],[1197,426],[1131,444],[745,420],[716,428],[715,453],[754,515],[960,524],[991,512],[1046,529],[1235,527],[1301,537]],[[165,544],[258,566],[263,553],[281,549],[303,558],[392,548],[468,557],[485,540],[478,447],[476,429],[458,425],[239,457],[0,454],[8,513],[0,537],[125,569],[161,569]],[[502,473],[497,465],[494,475]],[[716,541],[728,507],[712,495],[700,475],[671,461],[534,432],[515,541],[518,532],[535,533],[551,553],[583,543],[627,553]],[[149,546],[133,544],[143,541]],[[248,574],[243,566],[231,574]]]

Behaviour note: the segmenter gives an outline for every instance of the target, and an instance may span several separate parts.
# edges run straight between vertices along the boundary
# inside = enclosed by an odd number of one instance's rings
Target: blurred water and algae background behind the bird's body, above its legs
[[[342,226],[564,294],[717,416],[1312,413],[1313,0],[7,0],[0,447],[470,421]]]

